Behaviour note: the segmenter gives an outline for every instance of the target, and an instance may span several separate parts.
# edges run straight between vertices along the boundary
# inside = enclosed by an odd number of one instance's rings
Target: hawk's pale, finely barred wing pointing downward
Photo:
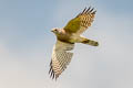
[[[50,63],[50,77],[57,79],[66,68],[66,65],[69,65],[73,56],[73,53],[70,52],[73,47],[74,44],[69,44],[61,41],[57,42],[53,47],[52,59]]]

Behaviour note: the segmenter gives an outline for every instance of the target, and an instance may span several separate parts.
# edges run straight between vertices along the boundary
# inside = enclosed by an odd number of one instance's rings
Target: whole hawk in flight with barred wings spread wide
[[[99,42],[89,40],[81,35],[89,26],[91,26],[96,10],[94,8],[84,8],[74,19],[70,20],[64,28],[54,28],[51,30],[57,36],[57,43],[53,46],[50,77],[55,79],[70,64],[73,56],[72,50],[75,43],[82,43],[91,46],[99,46]]]

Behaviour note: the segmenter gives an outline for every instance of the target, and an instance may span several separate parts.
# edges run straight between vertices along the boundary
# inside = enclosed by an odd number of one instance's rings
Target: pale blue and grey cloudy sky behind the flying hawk
[[[49,78],[55,36],[85,7],[98,12],[58,81]],[[0,0],[0,88],[133,88],[132,0]]]

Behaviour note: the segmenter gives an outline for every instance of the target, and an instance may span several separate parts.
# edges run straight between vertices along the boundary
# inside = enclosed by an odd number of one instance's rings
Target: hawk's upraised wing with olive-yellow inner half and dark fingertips
[[[91,7],[89,9],[85,8],[74,19],[69,21],[66,26],[64,26],[64,30],[69,33],[83,33],[89,26],[91,26],[95,12],[96,11],[94,11],[93,8],[91,9]]]

